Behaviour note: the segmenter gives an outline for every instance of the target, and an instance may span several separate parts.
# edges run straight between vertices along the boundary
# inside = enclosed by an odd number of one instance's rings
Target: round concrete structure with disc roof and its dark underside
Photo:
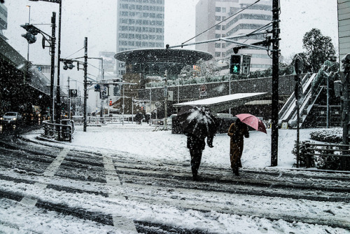
[[[211,60],[213,55],[200,50],[146,48],[125,50],[114,55],[125,62],[126,73],[141,73],[144,76],[168,76],[176,78],[181,69],[194,65],[198,60]]]

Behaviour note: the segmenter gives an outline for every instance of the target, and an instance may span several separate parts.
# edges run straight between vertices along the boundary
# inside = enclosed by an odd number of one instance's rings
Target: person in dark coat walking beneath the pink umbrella
[[[248,125],[242,123],[237,118],[235,123],[230,125],[228,130],[230,136],[230,162],[233,173],[239,176],[239,167],[241,167],[241,155],[243,153],[244,137],[249,137]]]

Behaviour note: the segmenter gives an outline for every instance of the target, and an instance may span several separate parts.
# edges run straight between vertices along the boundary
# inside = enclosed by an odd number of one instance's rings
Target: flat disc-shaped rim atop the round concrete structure
[[[213,55],[200,50],[144,48],[125,50],[114,55],[116,60],[122,62],[181,62],[195,64],[198,60],[211,60]]]

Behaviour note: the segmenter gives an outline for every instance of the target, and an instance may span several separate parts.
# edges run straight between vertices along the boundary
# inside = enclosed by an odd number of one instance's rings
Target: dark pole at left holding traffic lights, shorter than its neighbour
[[[52,99],[51,101],[51,108],[50,108],[50,123],[53,123],[53,115],[54,115],[54,108],[55,108],[55,96],[53,93],[53,86],[55,85],[55,43],[56,43],[56,13],[52,12],[52,18],[51,18],[51,74],[50,74],[50,97]]]

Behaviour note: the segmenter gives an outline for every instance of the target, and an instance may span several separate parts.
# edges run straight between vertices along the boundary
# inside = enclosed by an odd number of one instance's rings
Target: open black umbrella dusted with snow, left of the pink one
[[[178,113],[178,120],[185,135],[204,138],[216,133],[216,118],[204,107],[183,106]]]

